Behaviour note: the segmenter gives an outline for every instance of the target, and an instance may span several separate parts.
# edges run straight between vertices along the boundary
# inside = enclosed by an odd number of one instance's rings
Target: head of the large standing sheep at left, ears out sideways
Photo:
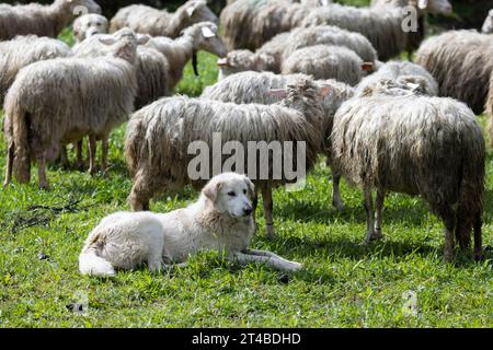
[[[135,34],[134,31],[127,27],[113,34],[99,36],[99,40],[102,44],[111,47],[113,56],[125,59],[131,65],[136,61],[137,45],[146,44],[149,38],[149,35]]]

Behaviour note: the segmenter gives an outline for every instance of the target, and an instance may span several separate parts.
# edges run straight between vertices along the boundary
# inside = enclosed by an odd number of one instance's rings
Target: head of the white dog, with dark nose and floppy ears
[[[248,218],[253,212],[254,186],[245,175],[236,173],[217,175],[202,191],[220,213],[232,218]]]

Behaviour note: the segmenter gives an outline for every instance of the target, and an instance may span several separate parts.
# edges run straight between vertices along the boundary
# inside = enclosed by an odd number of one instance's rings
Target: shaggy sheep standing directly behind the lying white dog
[[[136,112],[128,124],[125,142],[134,183],[129,195],[131,208],[149,209],[149,199],[162,189],[172,190],[187,183],[200,187],[203,180],[190,177],[188,167],[195,156],[190,154],[188,147],[192,141],[204,141],[213,152],[207,154],[208,159],[217,158],[220,154],[213,151],[216,132],[220,132],[221,142],[238,141],[244,150],[251,141],[265,141],[267,144],[279,141],[285,145],[285,142],[293,141],[297,154],[298,141],[305,142],[305,168],[308,172],[317,162],[322,147],[321,133],[317,130],[321,128],[323,116],[321,97],[317,93],[322,94],[323,91],[326,90],[319,89],[311,80],[300,79],[288,88],[287,98],[275,105],[237,105],[177,96],[162,98]],[[272,235],[272,187],[288,179],[285,174],[273,176],[279,168],[273,164],[272,152],[267,152],[267,165],[262,163],[265,166],[253,167],[246,161],[248,153],[242,153],[244,170],[262,192],[267,234]],[[226,155],[222,162],[225,160]],[[237,164],[237,171],[238,166],[243,164]],[[205,172],[210,175],[209,170]],[[268,179],[261,178],[263,172],[268,173]]]

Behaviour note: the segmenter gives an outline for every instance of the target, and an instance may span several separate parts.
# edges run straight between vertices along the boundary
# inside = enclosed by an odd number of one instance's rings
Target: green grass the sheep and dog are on
[[[69,35],[69,34],[67,34]],[[177,92],[195,95],[215,79],[215,58],[200,55],[199,79],[186,68]],[[485,117],[480,118],[485,124]],[[368,247],[359,190],[342,184],[346,209],[330,206],[331,174],[323,162],[299,192],[277,189],[274,215],[278,237],[261,232],[254,248],[301,261],[289,276],[260,265],[241,268],[218,254],[193,257],[186,268],[151,275],[145,268],[100,280],[78,272],[78,255],[90,230],[105,215],[127,210],[130,189],[122,148],[125,126],[112,133],[107,176],[48,170],[50,189],[30,185],[0,190],[0,327],[492,327],[491,253],[484,262],[458,254],[443,260],[443,226],[417,198],[391,194],[383,211],[381,242]],[[72,152],[73,153],[73,152]],[[73,155],[72,155],[73,156]],[[0,167],[5,165],[0,137]],[[186,206],[196,194],[162,196],[154,211]],[[54,213],[33,205],[76,210]],[[261,208],[261,206],[260,206]],[[484,243],[492,244],[493,166],[488,158]],[[260,228],[265,224],[257,212]],[[39,220],[32,228],[20,220]],[[15,230],[16,229],[16,230]],[[45,257],[45,258],[44,258]],[[47,258],[46,258],[47,257]],[[403,311],[403,293],[417,298],[417,314]],[[67,305],[85,295],[89,311]],[[83,299],[83,298],[82,298]]]

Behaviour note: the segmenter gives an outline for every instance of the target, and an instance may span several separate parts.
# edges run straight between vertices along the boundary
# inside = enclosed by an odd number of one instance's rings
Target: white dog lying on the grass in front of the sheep
[[[89,234],[79,256],[84,275],[110,277],[115,268],[134,269],[146,262],[151,271],[185,262],[199,250],[225,252],[240,264],[263,262],[274,269],[297,271],[298,262],[249,249],[255,231],[250,197],[252,182],[244,175],[215,176],[198,201],[169,213],[116,212]]]

